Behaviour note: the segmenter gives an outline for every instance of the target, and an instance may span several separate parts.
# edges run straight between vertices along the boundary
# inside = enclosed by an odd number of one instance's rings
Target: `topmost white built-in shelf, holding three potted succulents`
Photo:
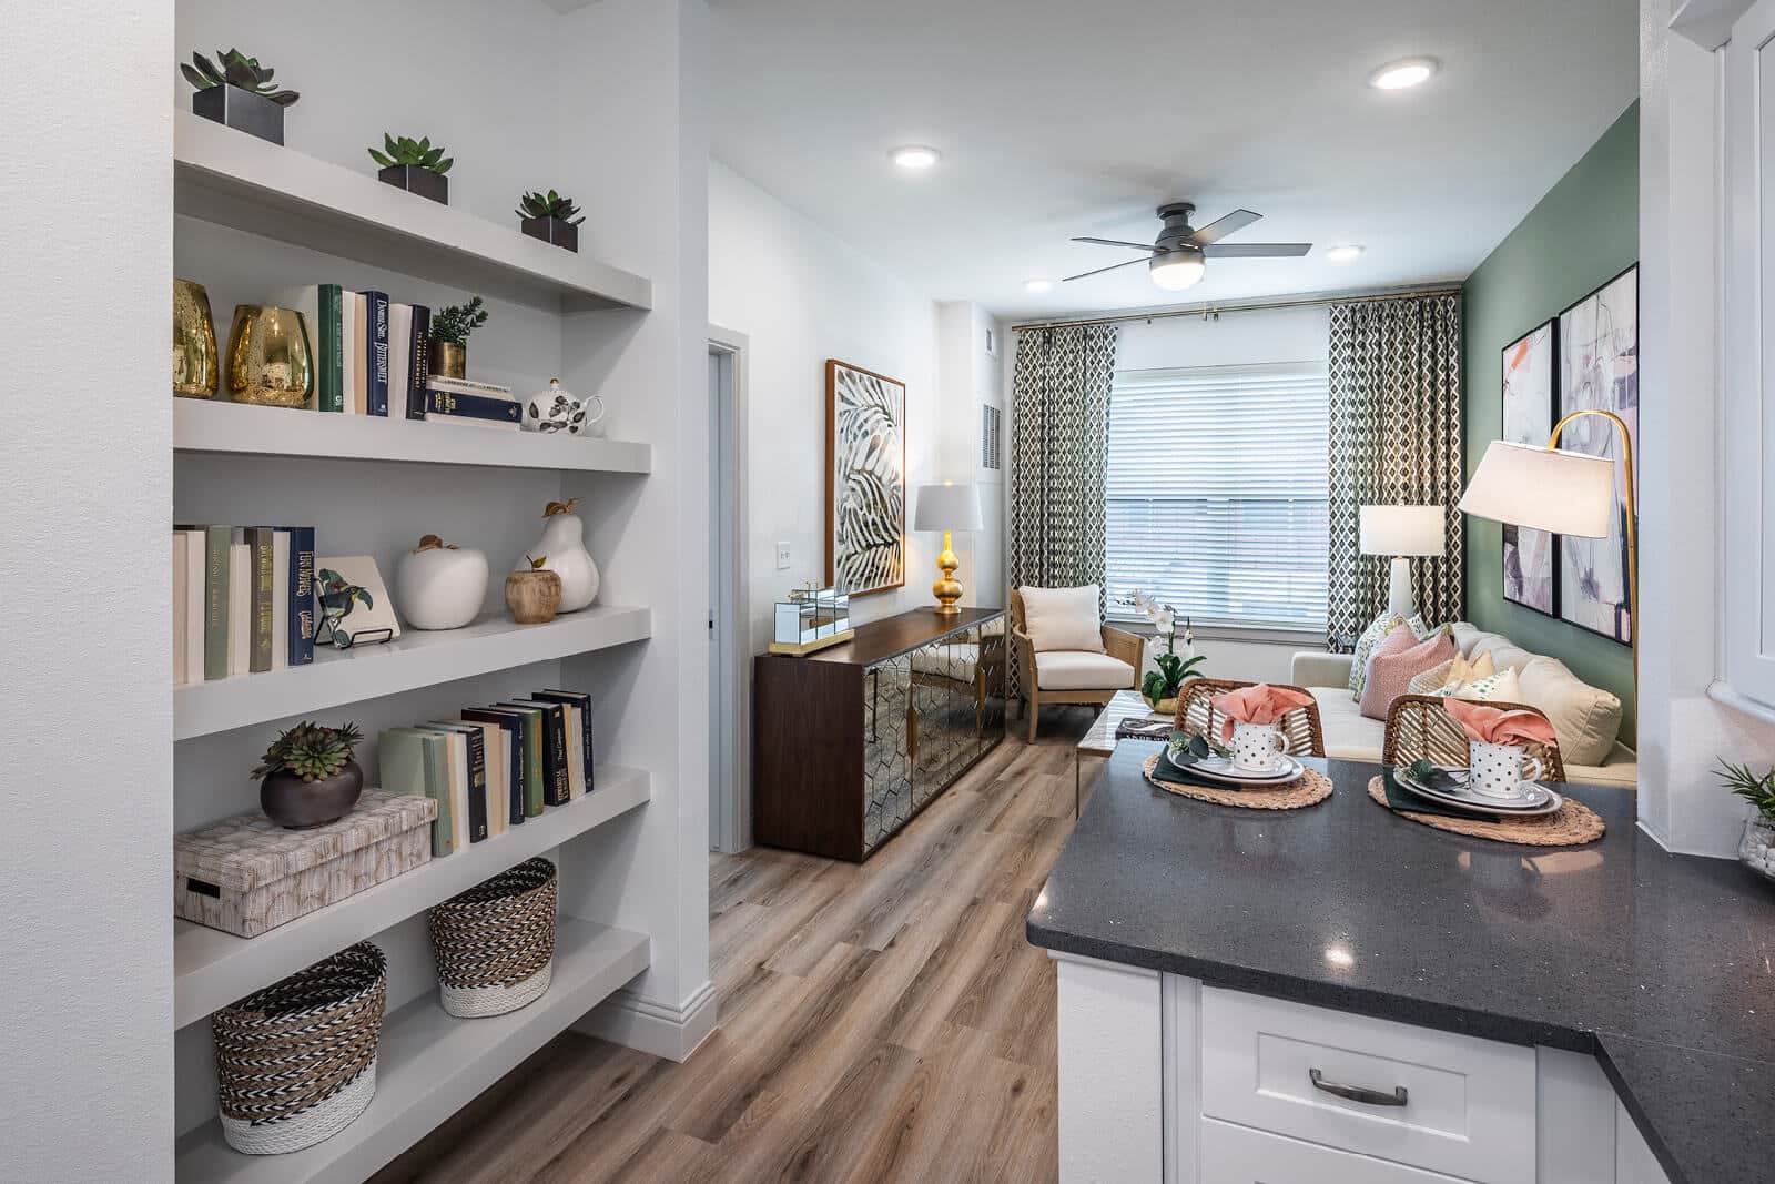
[[[529,238],[509,224],[383,185],[178,110],[174,209],[330,256],[564,312],[648,309],[651,280]]]

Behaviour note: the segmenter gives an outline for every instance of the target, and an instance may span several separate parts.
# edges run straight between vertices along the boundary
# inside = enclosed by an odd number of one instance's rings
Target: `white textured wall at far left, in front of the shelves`
[[[172,4],[5,25],[0,1177],[170,1180]]]

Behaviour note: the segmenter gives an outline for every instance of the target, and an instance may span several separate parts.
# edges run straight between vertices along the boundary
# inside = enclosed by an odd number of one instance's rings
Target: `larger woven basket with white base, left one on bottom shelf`
[[[387,959],[360,941],[211,1015],[229,1147],[302,1150],[364,1113],[387,992]]]

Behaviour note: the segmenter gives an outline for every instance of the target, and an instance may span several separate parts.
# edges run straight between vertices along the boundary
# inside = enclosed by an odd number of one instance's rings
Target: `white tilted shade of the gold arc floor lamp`
[[[1582,538],[1608,538],[1613,508],[1613,460],[1511,440],[1486,447],[1461,495],[1470,515]]]

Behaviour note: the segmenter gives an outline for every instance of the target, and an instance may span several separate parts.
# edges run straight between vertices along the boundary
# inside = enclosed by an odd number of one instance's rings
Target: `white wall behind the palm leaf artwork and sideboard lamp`
[[[746,547],[751,641],[761,653],[770,639],[770,605],[797,584],[825,577],[827,359],[905,383],[909,492],[946,476],[937,305],[825,227],[710,162],[708,320],[751,341]],[[788,570],[777,570],[777,541],[790,545]],[[852,600],[852,620],[930,604],[941,547],[941,536],[909,534],[905,588]]]

